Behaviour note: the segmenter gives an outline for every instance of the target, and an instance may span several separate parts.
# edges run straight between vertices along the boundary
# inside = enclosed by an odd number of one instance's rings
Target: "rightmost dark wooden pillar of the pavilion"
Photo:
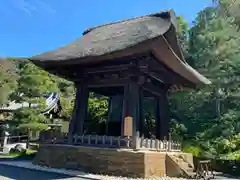
[[[156,106],[156,138],[164,140],[164,137],[168,137],[169,132],[169,104],[167,99],[167,93],[162,93],[162,96],[157,97]]]

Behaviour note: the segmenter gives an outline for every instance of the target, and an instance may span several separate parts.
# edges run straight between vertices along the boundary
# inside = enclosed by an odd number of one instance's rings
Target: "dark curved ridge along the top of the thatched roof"
[[[120,21],[115,21],[115,22],[111,22],[111,23],[102,24],[102,25],[99,25],[99,26],[90,27],[90,28],[86,29],[85,31],[83,31],[82,35],[86,35],[87,33],[91,32],[92,30],[94,30],[96,28],[103,27],[103,26],[109,26],[109,25],[113,25],[113,24],[123,23],[123,22],[131,21],[131,20],[135,20],[135,19],[141,19],[141,18],[144,18],[144,17],[161,17],[163,19],[167,19],[167,18],[170,18],[171,15],[174,15],[174,14],[175,14],[174,11],[172,9],[170,9],[168,11],[160,11],[160,12],[151,13],[151,14],[148,14],[148,15],[133,17],[133,18],[130,18],[130,19],[123,19],[123,20],[120,20]]]

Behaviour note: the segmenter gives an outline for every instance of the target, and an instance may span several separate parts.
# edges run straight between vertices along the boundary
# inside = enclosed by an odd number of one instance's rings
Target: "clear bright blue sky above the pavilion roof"
[[[0,0],[0,56],[27,57],[65,45],[84,29],[166,9],[192,22],[211,0]]]

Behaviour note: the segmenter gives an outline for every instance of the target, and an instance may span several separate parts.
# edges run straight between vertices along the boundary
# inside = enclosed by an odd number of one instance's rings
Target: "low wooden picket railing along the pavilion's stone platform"
[[[53,137],[44,140],[47,144],[68,144],[68,137]],[[181,143],[176,141],[160,141],[158,139],[147,139],[144,137],[106,136],[106,135],[74,135],[72,138],[74,146],[92,146],[104,148],[126,148],[136,150],[151,150],[162,152],[181,151]]]

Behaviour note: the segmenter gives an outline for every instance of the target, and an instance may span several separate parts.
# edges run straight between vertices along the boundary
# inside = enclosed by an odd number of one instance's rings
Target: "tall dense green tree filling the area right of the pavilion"
[[[221,7],[220,7],[221,6]],[[189,30],[188,62],[213,84],[171,96],[172,114],[186,127],[185,141],[199,143],[211,156],[236,151],[239,130],[240,34],[223,5],[198,13]]]

